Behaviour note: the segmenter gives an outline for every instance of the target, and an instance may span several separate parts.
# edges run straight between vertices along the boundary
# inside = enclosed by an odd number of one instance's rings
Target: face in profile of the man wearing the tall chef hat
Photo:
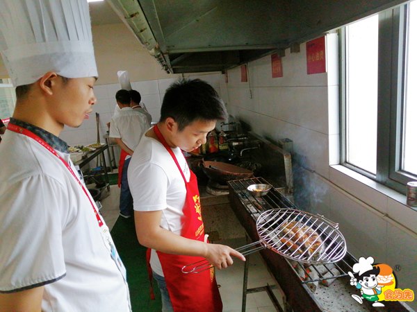
[[[57,123],[79,127],[97,101],[93,92],[96,78],[71,78],[66,82],[59,79],[54,89],[55,103],[51,103],[49,112]]]

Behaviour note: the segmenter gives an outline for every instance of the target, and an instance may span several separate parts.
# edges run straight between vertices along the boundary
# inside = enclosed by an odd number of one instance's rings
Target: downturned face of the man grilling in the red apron
[[[186,128],[183,128],[183,130],[178,131],[176,129],[173,132],[172,143],[186,152],[195,150],[202,144],[206,143],[207,134],[215,128],[215,123],[215,120],[193,121],[193,123],[187,125]]]

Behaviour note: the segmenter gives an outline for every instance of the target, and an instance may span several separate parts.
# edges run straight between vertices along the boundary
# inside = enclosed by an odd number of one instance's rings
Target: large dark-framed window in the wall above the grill
[[[341,163],[405,193],[417,180],[417,0],[341,30]]]

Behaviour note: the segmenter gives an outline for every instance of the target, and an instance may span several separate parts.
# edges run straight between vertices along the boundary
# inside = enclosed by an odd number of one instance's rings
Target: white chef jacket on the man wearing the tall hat
[[[76,173],[70,155],[58,154]],[[0,159],[0,292],[44,285],[42,311],[130,311],[128,286],[101,236],[107,226],[100,229],[70,171],[12,131]]]

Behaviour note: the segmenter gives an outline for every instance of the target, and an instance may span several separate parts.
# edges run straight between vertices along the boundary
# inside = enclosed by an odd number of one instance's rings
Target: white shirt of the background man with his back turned
[[[144,114],[135,112],[131,107],[123,107],[119,114],[111,119],[108,137],[122,139],[128,148],[135,150],[149,126]]]

